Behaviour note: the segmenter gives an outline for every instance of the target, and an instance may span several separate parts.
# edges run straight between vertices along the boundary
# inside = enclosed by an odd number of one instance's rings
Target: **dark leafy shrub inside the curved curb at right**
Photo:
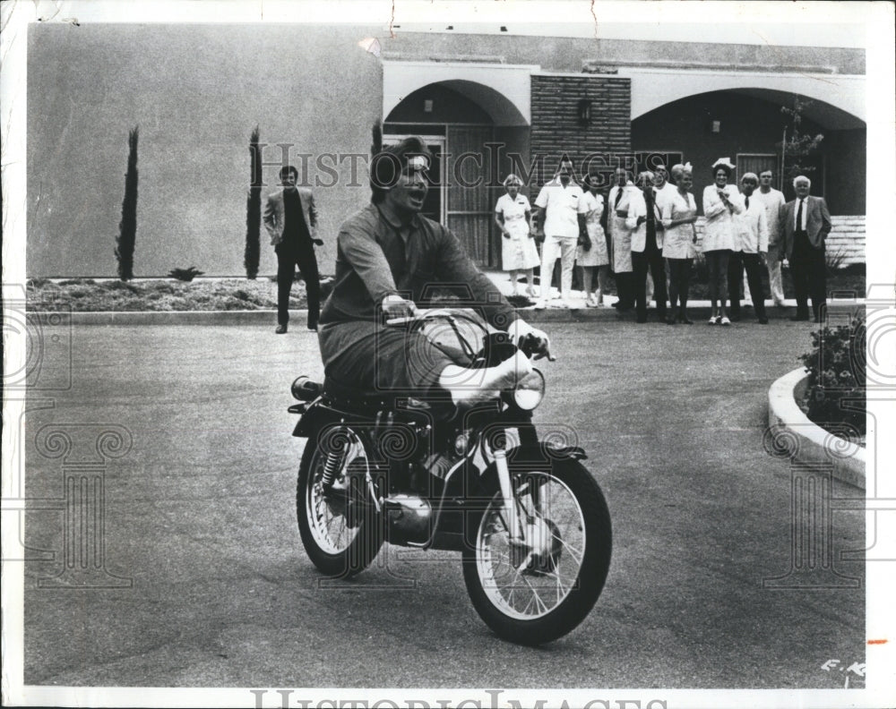
[[[815,423],[847,424],[865,435],[865,341],[865,318],[858,313],[849,325],[812,333],[813,349],[799,359],[809,372],[802,404]]]

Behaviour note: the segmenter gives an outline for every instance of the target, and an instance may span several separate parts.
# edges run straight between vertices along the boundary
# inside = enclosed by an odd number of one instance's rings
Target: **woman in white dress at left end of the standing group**
[[[522,180],[516,175],[507,175],[504,187],[507,193],[495,204],[495,224],[501,229],[501,265],[510,271],[513,295],[521,295],[517,278],[520,271],[526,274],[526,295],[535,296],[532,287],[532,269],[538,266],[538,249],[532,238],[532,209],[529,200],[520,194]]]

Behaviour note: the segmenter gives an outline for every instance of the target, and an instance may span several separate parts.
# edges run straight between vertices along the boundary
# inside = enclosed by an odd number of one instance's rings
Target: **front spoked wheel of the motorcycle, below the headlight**
[[[585,619],[612,549],[607,501],[588,470],[567,459],[545,467],[510,467],[523,534],[511,534],[493,479],[494,496],[468,517],[463,551],[463,579],[479,617],[520,645],[551,642]]]

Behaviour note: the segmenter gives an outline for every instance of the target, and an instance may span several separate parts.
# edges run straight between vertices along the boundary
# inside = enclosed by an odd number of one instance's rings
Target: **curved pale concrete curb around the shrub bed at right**
[[[809,375],[803,367],[776,380],[769,388],[769,431],[766,449],[774,456],[800,463],[833,466],[841,483],[865,490],[866,449],[825,431],[797,406]]]

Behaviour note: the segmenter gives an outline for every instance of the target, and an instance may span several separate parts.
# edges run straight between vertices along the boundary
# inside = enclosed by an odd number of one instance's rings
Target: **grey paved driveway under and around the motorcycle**
[[[791,568],[794,528],[788,462],[762,444],[766,392],[808,326],[546,328],[560,358],[537,423],[577,431],[614,521],[606,589],[573,634],[542,649],[496,639],[452,553],[391,548],[357,580],[322,584],[298,541],[303,441],[286,412],[292,378],[322,373],[305,330],[80,326],[72,389],[28,416],[28,493],[58,499],[66,477],[101,474],[108,573],[95,578],[125,587],[38,587],[82,537],[58,506],[32,505],[26,541],[47,560],[26,566],[26,684],[842,687],[865,658],[863,564],[840,560],[864,548],[863,516],[832,514],[840,587],[762,584]],[[38,452],[47,425],[78,452]],[[79,473],[103,430],[132,447],[107,440],[120,457]],[[832,658],[840,671],[823,670]]]

